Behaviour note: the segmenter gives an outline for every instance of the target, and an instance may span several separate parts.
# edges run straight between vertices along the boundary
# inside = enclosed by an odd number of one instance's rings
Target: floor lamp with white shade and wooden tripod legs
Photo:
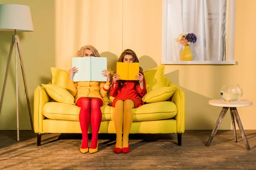
[[[3,91],[1,95],[1,101],[0,101],[0,113],[3,105],[3,96],[6,88],[9,66],[12,58],[12,50],[13,50],[13,47],[15,47],[17,141],[19,141],[20,137],[19,137],[19,107],[18,107],[18,74],[17,74],[18,59],[20,60],[23,82],[25,86],[26,100],[29,108],[30,124],[31,124],[32,131],[34,132],[31,108],[29,103],[29,93],[26,85],[26,76],[25,76],[23,59],[22,59],[21,49],[20,49],[20,40],[19,40],[19,36],[16,35],[16,31],[21,31],[21,32],[34,31],[29,6],[16,5],[16,4],[1,4],[0,5],[0,31],[14,32],[14,35],[12,35],[9,57],[8,57],[7,66],[6,66],[6,74],[4,77]]]

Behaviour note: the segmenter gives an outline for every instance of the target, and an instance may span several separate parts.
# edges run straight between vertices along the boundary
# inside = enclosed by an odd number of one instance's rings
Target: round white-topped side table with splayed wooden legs
[[[215,136],[218,127],[221,125],[222,120],[224,119],[228,108],[230,108],[230,114],[231,114],[231,120],[232,120],[232,125],[233,125],[233,132],[234,132],[234,137],[235,137],[235,142],[237,142],[237,137],[236,137],[236,124],[235,124],[235,119],[236,119],[236,123],[239,127],[239,131],[241,133],[242,138],[244,139],[244,144],[247,148],[247,150],[250,150],[250,145],[247,141],[247,137],[244,133],[244,128],[243,125],[241,123],[238,111],[236,109],[236,107],[245,107],[245,106],[250,106],[253,105],[253,102],[249,101],[249,100],[239,100],[238,102],[226,102],[223,99],[214,99],[214,100],[210,100],[209,101],[209,105],[213,105],[213,106],[220,106],[222,107],[220,116],[218,117],[218,120],[216,122],[216,125],[214,126],[213,130],[212,130],[212,134],[208,139],[208,142],[206,144],[206,146],[209,146],[212,142],[213,137]]]

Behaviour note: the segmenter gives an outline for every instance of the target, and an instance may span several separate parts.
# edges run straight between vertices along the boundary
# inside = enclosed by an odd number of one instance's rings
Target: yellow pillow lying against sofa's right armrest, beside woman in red
[[[155,103],[155,102],[163,102],[174,94],[177,86],[175,87],[161,87],[156,88],[150,92],[148,92],[143,98],[142,101],[146,103]]]

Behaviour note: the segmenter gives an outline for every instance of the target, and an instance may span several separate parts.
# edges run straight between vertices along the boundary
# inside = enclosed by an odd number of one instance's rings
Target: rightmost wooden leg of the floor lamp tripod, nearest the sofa
[[[24,82],[24,87],[25,87],[25,92],[26,92],[27,105],[28,105],[28,109],[29,109],[30,125],[31,125],[32,132],[34,133],[34,126],[33,126],[32,114],[31,114],[31,107],[30,107],[30,102],[29,102],[29,92],[28,92],[28,88],[27,88],[27,84],[26,84],[25,69],[24,69],[23,58],[22,58],[21,49],[20,49],[20,39],[19,39],[18,35],[15,35],[15,36],[16,36],[16,39],[17,39],[18,51],[19,51],[19,54],[20,54],[20,66],[21,66],[23,82]]]

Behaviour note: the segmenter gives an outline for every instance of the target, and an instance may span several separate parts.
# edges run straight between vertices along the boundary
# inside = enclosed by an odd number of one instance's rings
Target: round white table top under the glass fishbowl
[[[253,102],[249,100],[243,100],[243,99],[240,99],[237,102],[226,102],[223,99],[213,99],[209,101],[209,105],[235,108],[235,107],[250,106],[250,105],[253,105]]]

